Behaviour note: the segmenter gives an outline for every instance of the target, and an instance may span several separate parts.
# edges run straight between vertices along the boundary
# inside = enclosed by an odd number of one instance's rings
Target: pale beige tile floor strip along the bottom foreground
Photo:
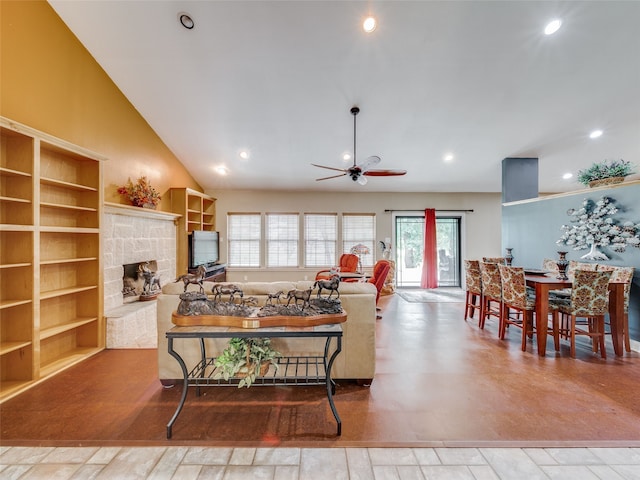
[[[3,480],[640,479],[640,448],[1,447]]]

